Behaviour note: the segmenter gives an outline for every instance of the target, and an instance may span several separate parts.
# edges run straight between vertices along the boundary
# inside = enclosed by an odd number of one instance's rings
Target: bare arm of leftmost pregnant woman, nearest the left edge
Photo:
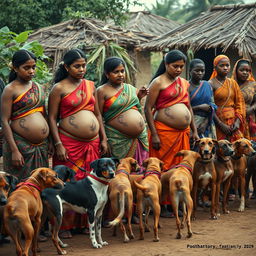
[[[2,113],[2,128],[7,143],[12,152],[12,165],[23,166],[24,158],[20,153],[15,140],[13,138],[12,129],[10,127],[10,120],[12,115],[12,104],[13,104],[13,90],[11,86],[6,86],[1,100],[1,113]]]

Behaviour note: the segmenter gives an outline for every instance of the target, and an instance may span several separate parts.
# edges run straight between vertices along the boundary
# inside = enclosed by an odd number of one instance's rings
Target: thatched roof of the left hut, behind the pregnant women
[[[79,45],[88,49],[93,45],[112,41],[124,48],[133,49],[152,38],[152,35],[146,33],[87,18],[68,20],[41,28],[29,36],[29,41],[39,41],[45,49],[45,54],[54,56],[54,60],[58,61],[63,52]]]

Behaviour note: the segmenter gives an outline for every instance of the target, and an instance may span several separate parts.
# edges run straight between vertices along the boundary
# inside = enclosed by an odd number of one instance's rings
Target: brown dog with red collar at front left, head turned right
[[[64,184],[55,171],[49,168],[38,168],[31,172],[31,176],[17,185],[17,189],[8,198],[4,209],[4,225],[12,237],[16,253],[28,256],[32,244],[33,256],[36,256],[37,236],[41,224],[43,211],[40,192],[45,188],[63,188]],[[20,236],[25,236],[24,249]]]

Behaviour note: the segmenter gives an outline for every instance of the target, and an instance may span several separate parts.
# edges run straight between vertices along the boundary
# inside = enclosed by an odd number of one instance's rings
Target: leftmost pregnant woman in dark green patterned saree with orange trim
[[[1,101],[4,170],[19,180],[38,167],[48,167],[49,127],[44,88],[32,81],[36,57],[27,50],[12,58],[9,84]]]

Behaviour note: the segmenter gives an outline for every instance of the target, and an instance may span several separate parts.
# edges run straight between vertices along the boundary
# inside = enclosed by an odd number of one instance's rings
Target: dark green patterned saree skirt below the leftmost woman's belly
[[[48,141],[40,144],[32,144],[20,135],[13,133],[18,150],[24,158],[24,165],[16,167],[12,165],[12,152],[9,144],[4,139],[3,143],[3,163],[4,171],[16,176],[19,181],[30,176],[30,172],[39,167],[48,167]]]

